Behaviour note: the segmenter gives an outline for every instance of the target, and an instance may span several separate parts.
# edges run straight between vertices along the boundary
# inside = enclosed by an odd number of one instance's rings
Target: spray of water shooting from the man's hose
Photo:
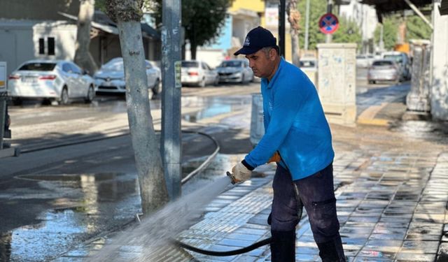
[[[88,261],[155,261],[172,238],[191,226],[202,208],[228,187],[228,177],[220,177],[207,186],[182,196],[165,208],[145,217],[141,224],[120,232],[111,243]]]

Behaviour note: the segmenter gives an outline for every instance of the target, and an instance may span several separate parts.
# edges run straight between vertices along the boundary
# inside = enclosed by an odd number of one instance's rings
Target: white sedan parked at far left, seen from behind
[[[22,99],[48,99],[60,104],[85,99],[90,103],[95,86],[93,78],[71,61],[31,60],[9,75],[8,93],[14,104],[22,103]]]

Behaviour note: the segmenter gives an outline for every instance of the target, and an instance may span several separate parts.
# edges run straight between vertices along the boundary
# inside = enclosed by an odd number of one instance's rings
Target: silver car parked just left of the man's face
[[[245,59],[230,59],[222,61],[216,68],[219,82],[252,82],[253,71]]]

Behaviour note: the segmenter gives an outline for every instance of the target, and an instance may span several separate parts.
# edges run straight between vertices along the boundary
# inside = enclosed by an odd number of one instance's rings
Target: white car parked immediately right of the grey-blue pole
[[[197,60],[183,60],[181,67],[182,85],[205,87],[208,84],[218,85],[218,73],[206,62]]]

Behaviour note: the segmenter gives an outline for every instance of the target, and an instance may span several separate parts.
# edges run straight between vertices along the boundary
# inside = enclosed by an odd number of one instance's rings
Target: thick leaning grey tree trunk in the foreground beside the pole
[[[125,64],[127,117],[145,214],[161,208],[169,196],[155,137],[141,38],[141,0],[108,0],[108,15],[118,24]]]

